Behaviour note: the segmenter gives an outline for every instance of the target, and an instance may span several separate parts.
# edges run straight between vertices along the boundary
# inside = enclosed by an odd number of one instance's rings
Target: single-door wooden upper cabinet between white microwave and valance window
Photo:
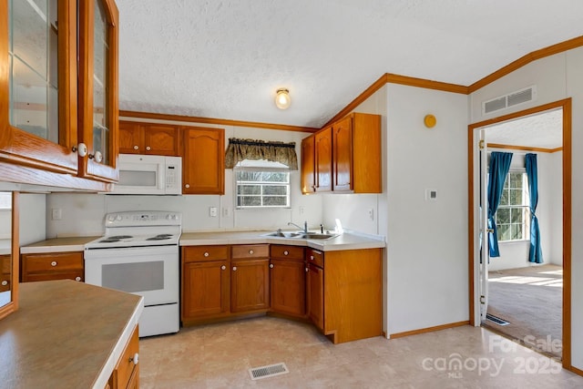
[[[183,194],[225,194],[225,131],[183,128]]]

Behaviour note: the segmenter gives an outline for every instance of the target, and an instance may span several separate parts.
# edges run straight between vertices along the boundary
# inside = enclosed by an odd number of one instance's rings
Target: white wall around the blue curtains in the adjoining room
[[[492,148],[492,150],[495,150]],[[504,149],[513,153],[510,169],[525,167],[525,151]],[[535,153],[538,168],[537,218],[544,263],[563,262],[563,191],[562,152]],[[501,241],[500,256],[492,258],[490,271],[517,269],[533,264],[528,261],[530,241]]]

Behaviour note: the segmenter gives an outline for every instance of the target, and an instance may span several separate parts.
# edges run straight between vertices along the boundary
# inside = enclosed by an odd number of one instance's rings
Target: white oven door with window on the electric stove
[[[179,302],[179,246],[86,250],[85,282],[144,296],[144,306]]]

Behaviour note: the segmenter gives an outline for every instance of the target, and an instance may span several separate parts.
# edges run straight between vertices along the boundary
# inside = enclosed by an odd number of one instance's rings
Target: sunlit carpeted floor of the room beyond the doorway
[[[503,326],[487,320],[485,325],[561,358],[563,268],[541,265],[490,271],[488,278],[488,313],[509,324]]]

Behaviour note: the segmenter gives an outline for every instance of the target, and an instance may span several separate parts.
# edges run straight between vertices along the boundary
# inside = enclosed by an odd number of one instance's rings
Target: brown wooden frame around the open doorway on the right
[[[563,367],[571,370],[571,176],[572,176],[572,145],[571,145],[571,98],[565,98],[542,106],[524,109],[501,117],[491,118],[470,124],[467,132],[467,180],[468,180],[468,279],[469,279],[469,313],[470,325],[480,325],[479,316],[476,322],[476,260],[479,247],[479,230],[476,229],[476,199],[474,186],[476,167],[474,164],[476,149],[476,129],[493,124],[530,116],[554,108],[563,109]],[[479,137],[478,137],[479,138]],[[476,251],[478,250],[478,251]],[[479,315],[479,311],[477,312]]]

